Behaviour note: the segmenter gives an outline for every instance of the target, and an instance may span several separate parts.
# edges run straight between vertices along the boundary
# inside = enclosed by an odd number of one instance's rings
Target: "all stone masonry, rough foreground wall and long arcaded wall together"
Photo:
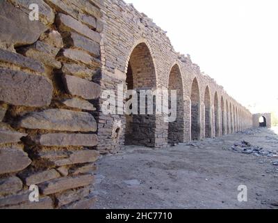
[[[29,19],[32,3],[38,21]],[[253,125],[245,107],[124,1],[3,0],[0,18],[0,208],[90,208],[100,153]],[[117,84],[177,89],[177,121],[104,115],[101,93]],[[28,200],[30,185],[39,202]]]

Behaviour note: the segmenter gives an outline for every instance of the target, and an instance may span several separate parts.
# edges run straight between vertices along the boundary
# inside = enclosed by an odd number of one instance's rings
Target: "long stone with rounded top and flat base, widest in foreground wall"
[[[31,112],[19,121],[19,126],[29,129],[58,130],[70,132],[96,132],[94,116],[86,112],[73,112],[65,109],[48,109]]]

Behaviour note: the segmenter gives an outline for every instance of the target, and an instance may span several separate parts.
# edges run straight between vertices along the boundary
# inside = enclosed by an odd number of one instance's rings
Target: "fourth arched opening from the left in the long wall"
[[[206,138],[211,137],[211,92],[206,86],[206,91],[204,92],[204,106],[205,106],[205,136]]]

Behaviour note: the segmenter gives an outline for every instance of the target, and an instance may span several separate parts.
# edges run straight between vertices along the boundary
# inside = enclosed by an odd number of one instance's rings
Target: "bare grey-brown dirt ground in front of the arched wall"
[[[232,151],[242,140],[278,151],[278,128],[106,155],[97,163],[92,208],[278,208],[278,157]],[[247,202],[238,201],[239,185],[247,186]]]

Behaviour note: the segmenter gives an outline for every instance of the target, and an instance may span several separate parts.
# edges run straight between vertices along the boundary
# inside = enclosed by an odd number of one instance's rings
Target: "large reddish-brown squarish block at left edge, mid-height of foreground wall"
[[[12,105],[49,105],[53,86],[47,77],[0,68],[0,100]]]

